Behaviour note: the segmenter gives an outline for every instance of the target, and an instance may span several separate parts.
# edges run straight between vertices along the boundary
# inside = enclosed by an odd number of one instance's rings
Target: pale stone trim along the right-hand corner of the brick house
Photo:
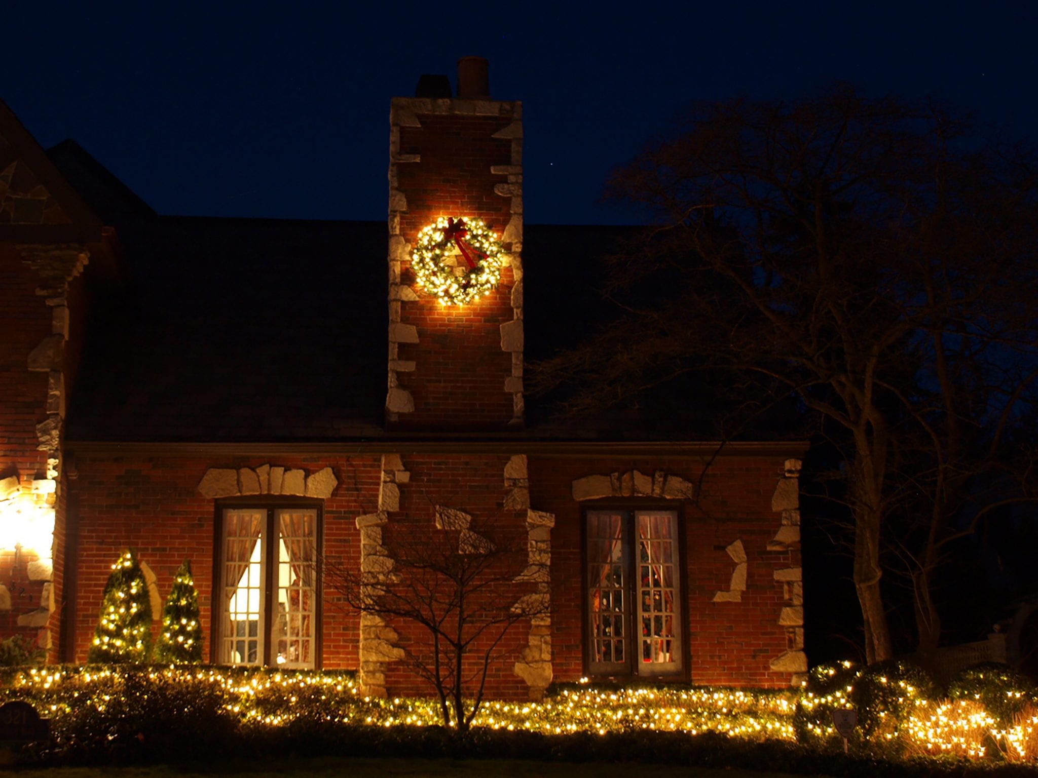
[[[785,477],[780,478],[771,497],[771,509],[782,520],[768,551],[790,551],[800,548],[800,460],[786,460]],[[786,650],[770,662],[772,670],[791,673],[790,685],[798,686],[808,672],[808,656],[803,652],[803,571],[783,567],[773,573],[782,584],[785,604],[778,612],[778,624],[786,631]]]

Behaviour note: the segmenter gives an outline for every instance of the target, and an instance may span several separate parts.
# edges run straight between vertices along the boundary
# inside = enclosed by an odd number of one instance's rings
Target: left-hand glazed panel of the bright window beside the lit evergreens
[[[261,510],[224,512],[221,661],[231,665],[263,662],[265,519]]]

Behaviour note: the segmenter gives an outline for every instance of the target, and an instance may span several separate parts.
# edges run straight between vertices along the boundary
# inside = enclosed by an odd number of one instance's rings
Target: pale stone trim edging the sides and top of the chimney
[[[513,425],[525,420],[523,397],[523,294],[522,294],[522,103],[491,100],[432,100],[428,98],[393,98],[389,105],[389,354],[386,387],[386,420],[399,421],[402,414],[414,413],[414,396],[400,385],[400,372],[414,372],[413,360],[400,359],[400,343],[417,343],[419,336],[412,325],[401,323],[401,303],[418,300],[415,291],[401,283],[402,262],[408,261],[411,245],[400,229],[401,215],[407,212],[407,196],[398,189],[397,166],[421,161],[416,154],[401,154],[401,128],[420,128],[420,114],[454,114],[458,116],[511,116],[512,123],[491,137],[511,141],[511,165],[491,165],[493,175],[506,176],[494,186],[494,192],[511,198],[511,214],[501,234],[503,265],[512,268],[513,318],[501,325],[501,351],[512,355],[512,373],[506,379],[503,391],[512,395]]]

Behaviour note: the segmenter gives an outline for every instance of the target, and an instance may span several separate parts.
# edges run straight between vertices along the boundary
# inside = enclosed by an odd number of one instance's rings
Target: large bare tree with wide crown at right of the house
[[[577,379],[588,388],[569,410],[588,412],[723,371],[733,389],[764,405],[793,397],[839,430],[870,663],[893,655],[880,588],[887,520],[912,478],[917,490],[925,480],[933,535],[912,564],[932,642],[929,575],[968,474],[985,470],[965,461],[978,440],[1002,451],[990,425],[1011,425],[1031,400],[1031,158],[934,103],[838,86],[796,103],[701,106],[611,188],[658,226],[609,258],[605,293],[623,315],[540,365],[541,390]],[[606,358],[618,349],[622,359]],[[965,383],[971,364],[989,382],[987,401]],[[1012,381],[991,383],[999,368]],[[925,478],[918,457],[900,455],[909,440],[940,454]]]

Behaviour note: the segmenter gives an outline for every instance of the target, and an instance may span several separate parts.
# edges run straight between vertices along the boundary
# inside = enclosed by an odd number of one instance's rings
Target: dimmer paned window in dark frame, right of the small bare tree
[[[680,674],[678,515],[589,510],[586,522],[589,672]]]

